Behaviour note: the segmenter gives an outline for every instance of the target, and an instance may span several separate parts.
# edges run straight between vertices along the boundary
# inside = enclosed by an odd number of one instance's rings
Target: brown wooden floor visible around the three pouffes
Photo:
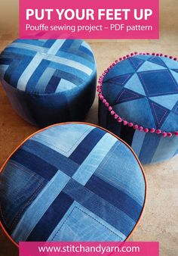
[[[100,74],[116,58],[127,53],[163,52],[178,56],[177,2],[161,8],[160,40],[88,41],[97,59]],[[170,14],[171,13],[171,14]],[[0,35],[0,51],[17,36],[17,30]],[[86,119],[97,123],[97,98]],[[0,166],[8,155],[27,136],[38,130],[22,120],[11,108],[0,86]],[[163,164],[145,166],[148,180],[148,200],[140,225],[133,233],[133,241],[160,242],[161,256],[178,255],[178,157]],[[17,256],[18,250],[0,230],[0,256]]]

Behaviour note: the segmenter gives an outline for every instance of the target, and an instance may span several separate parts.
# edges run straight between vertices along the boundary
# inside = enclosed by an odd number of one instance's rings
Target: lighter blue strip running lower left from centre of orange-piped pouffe
[[[60,170],[56,173],[53,179],[44,187],[37,198],[35,198],[35,201],[32,202],[23,214],[23,217],[12,233],[12,238],[15,241],[26,241],[29,233],[31,233],[32,229],[41,219],[44,212],[47,211],[51,203],[55,198],[57,198],[57,195],[60,194],[69,180],[70,177]]]

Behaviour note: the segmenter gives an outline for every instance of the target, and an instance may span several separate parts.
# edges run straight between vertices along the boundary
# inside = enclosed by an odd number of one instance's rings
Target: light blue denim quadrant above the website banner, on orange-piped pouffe
[[[48,241],[124,241],[126,236],[74,201]]]

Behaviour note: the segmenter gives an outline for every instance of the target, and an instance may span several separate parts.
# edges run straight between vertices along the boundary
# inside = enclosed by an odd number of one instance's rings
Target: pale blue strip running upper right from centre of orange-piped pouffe
[[[97,143],[93,148],[91,153],[85,158],[84,162],[72,176],[72,178],[81,185],[85,185],[87,181],[91,178],[97,167],[105,158],[106,154],[112,148],[112,146],[117,142],[114,136],[111,136],[109,133],[106,133],[102,139]]]

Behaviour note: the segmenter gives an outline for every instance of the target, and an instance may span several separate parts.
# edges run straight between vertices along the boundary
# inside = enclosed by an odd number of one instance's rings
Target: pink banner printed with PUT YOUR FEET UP
[[[158,0],[20,0],[21,39],[158,37]]]

